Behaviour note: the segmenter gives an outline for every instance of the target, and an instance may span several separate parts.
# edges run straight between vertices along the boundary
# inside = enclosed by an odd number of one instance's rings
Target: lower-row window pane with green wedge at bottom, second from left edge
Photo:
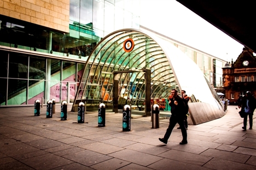
[[[27,80],[9,78],[7,105],[25,105],[27,96]]]

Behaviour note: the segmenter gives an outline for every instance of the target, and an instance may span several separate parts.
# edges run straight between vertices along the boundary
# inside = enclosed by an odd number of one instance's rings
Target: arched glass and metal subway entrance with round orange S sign
[[[189,103],[193,124],[225,114],[222,101],[193,60],[170,42],[137,29],[120,29],[104,37],[80,73],[72,111],[80,101],[86,102],[87,111],[97,111],[103,103],[114,113],[132,103],[138,106],[133,110],[143,104],[143,116],[150,116],[153,104],[170,111],[167,98],[176,89],[193,96]]]

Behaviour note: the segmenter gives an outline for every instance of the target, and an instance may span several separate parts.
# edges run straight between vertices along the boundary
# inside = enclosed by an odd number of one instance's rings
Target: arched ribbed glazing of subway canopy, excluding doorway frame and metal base
[[[102,100],[106,107],[112,106],[112,72],[146,68],[152,72],[152,99],[167,98],[171,89],[184,89],[196,101],[220,110],[219,102],[193,60],[170,42],[137,29],[115,31],[97,44],[85,64],[80,83],[84,87],[82,99],[88,98],[87,104],[91,106],[98,106]],[[145,98],[144,72],[125,72],[118,77],[120,105],[125,105],[128,98]]]

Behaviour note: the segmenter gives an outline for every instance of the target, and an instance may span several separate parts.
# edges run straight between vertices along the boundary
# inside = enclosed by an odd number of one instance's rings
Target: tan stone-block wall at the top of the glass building
[[[0,14],[69,32],[69,0],[0,0]]]

